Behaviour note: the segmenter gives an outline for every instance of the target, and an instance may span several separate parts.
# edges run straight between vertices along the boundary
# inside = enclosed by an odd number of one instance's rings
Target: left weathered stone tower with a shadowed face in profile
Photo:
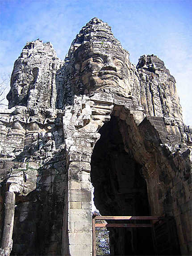
[[[51,77],[61,63],[49,42],[39,39],[27,42],[14,64],[7,96],[9,108],[54,106],[54,79]]]

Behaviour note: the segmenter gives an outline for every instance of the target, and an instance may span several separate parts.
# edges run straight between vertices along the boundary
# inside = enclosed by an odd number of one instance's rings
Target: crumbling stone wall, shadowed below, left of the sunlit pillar
[[[16,193],[17,255],[61,254],[67,184],[62,117],[38,114],[22,106],[1,114],[1,198],[6,190]]]

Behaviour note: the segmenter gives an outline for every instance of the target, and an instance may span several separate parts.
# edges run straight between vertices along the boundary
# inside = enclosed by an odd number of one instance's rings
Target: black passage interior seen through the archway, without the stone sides
[[[135,161],[131,149],[125,151],[118,123],[119,119],[112,117],[100,128],[100,139],[93,150],[91,180],[95,205],[101,215],[147,216],[150,209],[142,166]],[[150,228],[109,231],[111,255],[154,255]]]

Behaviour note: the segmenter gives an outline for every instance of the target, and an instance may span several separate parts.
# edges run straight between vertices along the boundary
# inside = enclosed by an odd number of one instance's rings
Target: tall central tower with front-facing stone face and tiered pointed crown
[[[65,87],[70,80],[74,94],[100,91],[131,97],[129,53],[100,19],[93,18],[76,35],[66,63],[72,68],[65,74]]]

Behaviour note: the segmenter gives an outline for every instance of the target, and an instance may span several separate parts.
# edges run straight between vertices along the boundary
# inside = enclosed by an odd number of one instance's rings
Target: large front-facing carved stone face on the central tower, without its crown
[[[81,81],[77,88],[79,94],[111,88],[124,96],[130,95],[127,52],[122,53],[111,48],[92,48],[87,44],[79,47],[74,56],[75,71]]]

